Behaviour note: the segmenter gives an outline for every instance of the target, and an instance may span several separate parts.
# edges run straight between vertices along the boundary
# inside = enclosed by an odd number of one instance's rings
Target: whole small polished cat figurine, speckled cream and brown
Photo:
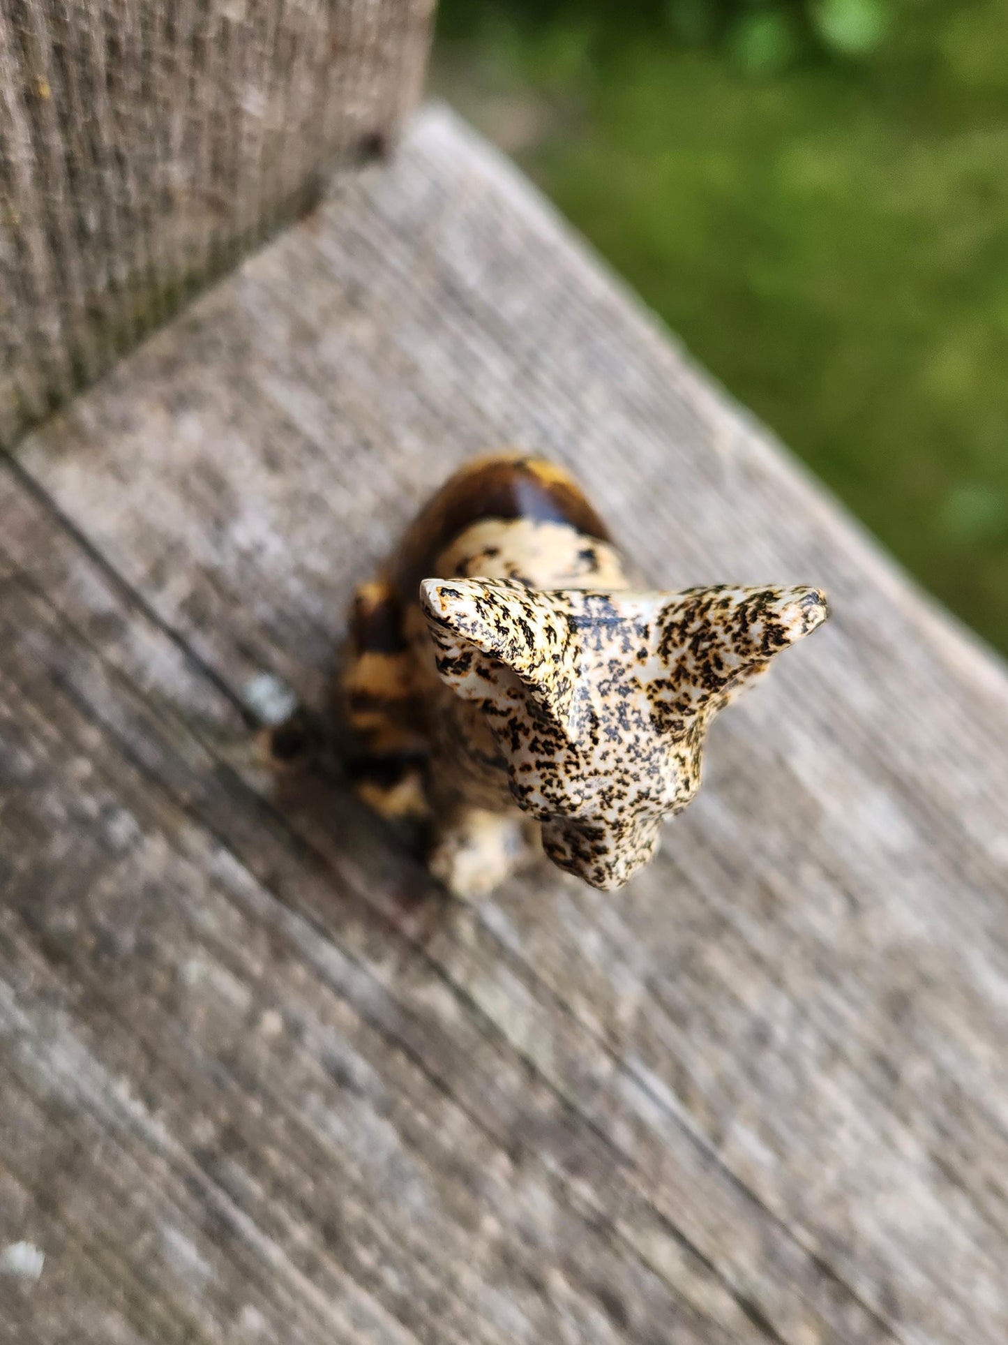
[[[696,794],[714,714],[825,616],[813,588],[640,590],[566,471],[477,460],[358,590],[358,791],[429,822],[460,896],[540,850],[618,888]]]

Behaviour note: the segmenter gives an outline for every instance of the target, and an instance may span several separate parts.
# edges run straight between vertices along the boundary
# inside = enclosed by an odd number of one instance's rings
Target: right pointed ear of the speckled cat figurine
[[[828,615],[825,594],[813,588],[668,594],[655,632],[660,672],[649,687],[661,728],[681,733],[698,714],[720,709]]]

